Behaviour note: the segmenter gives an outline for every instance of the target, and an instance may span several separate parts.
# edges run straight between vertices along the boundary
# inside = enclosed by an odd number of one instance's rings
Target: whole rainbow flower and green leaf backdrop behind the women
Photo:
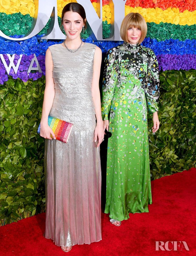
[[[98,1],[91,0],[95,10]],[[139,12],[144,16],[148,33],[143,45],[154,50],[159,62],[161,125],[155,135],[149,129],[151,178],[195,167],[196,1],[115,1],[125,4],[125,14]],[[72,1],[57,0],[59,23],[68,2]],[[10,37],[27,34],[35,16],[35,3],[0,0],[0,30]],[[93,41],[87,31],[81,36],[83,41],[98,45],[105,56],[109,48],[121,42],[109,39],[114,20],[112,0],[103,0],[102,4],[103,38],[107,41]],[[37,128],[45,87],[45,51],[51,44],[62,42],[40,39],[50,22],[28,40],[0,39],[0,225],[45,210],[44,139],[37,134]],[[102,160],[104,150],[102,147]]]

